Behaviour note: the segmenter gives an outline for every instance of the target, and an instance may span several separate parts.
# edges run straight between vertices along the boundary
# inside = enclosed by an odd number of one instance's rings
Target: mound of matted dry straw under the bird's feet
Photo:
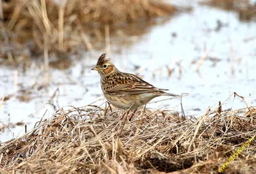
[[[60,109],[0,147],[1,173],[217,173],[255,133],[253,109],[181,119],[168,110],[140,110],[133,120],[109,106]],[[256,170],[256,141],[225,173]]]

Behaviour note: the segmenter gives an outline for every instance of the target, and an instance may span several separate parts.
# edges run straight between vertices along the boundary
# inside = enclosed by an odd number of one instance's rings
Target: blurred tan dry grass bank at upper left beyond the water
[[[9,61],[38,57],[45,50],[61,59],[67,53],[76,54],[81,45],[92,50],[92,40],[105,40],[106,29],[177,11],[154,0],[11,0],[3,1],[0,8],[5,28],[1,33],[5,48],[0,54]]]

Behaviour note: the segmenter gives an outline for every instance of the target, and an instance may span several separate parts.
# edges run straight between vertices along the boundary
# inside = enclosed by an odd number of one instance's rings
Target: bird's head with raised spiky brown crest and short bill
[[[110,58],[106,59],[106,54],[100,55],[97,65],[92,68],[92,70],[98,71],[101,78],[104,78],[105,76],[111,75],[115,71],[118,71],[115,65],[110,62]]]

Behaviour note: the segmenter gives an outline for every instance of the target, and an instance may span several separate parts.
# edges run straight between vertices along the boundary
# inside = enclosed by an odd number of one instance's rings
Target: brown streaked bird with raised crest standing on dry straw
[[[98,71],[100,75],[104,97],[117,108],[136,112],[140,106],[159,96],[180,97],[164,92],[168,89],[154,87],[139,76],[119,71],[110,58],[106,59],[106,54],[100,55],[97,65],[92,70]]]

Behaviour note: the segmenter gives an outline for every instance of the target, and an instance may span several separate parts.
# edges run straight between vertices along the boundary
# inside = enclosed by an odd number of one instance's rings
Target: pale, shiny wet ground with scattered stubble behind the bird
[[[20,136],[24,123],[29,130],[61,107],[85,106],[102,99],[99,75],[90,71],[102,52],[108,53],[120,71],[136,73],[175,94],[188,92],[182,99],[186,116],[198,117],[215,105],[213,110],[232,92],[255,106],[256,22],[240,21],[234,11],[200,6],[196,1],[189,5],[193,11],[154,25],[147,34],[111,38],[110,47],[72,59],[72,67],[66,70],[45,72],[37,61],[26,71],[20,64],[1,66],[0,97],[6,99],[0,110],[0,141]],[[49,85],[45,87],[45,83]],[[224,110],[246,107],[233,98],[224,103]],[[97,101],[102,103],[104,100]],[[153,102],[148,107],[180,114],[180,99]]]

